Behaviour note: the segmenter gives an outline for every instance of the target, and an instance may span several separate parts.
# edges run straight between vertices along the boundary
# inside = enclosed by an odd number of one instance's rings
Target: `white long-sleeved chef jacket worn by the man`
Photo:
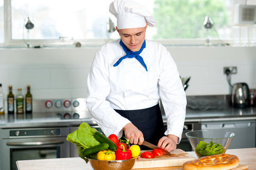
[[[95,55],[88,74],[87,107],[106,136],[121,137],[122,128],[130,121],[117,110],[138,110],[155,106],[160,99],[167,117],[165,135],[181,139],[186,97],[177,66],[167,49],[158,42],[146,40],[140,56],[148,71],[135,58],[126,58],[120,39],[106,43]],[[154,123],[154,122],[149,122]]]

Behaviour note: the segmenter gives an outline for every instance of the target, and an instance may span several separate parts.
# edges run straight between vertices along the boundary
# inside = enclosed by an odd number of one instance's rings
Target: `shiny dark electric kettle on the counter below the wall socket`
[[[232,87],[232,106],[245,108],[249,102],[249,87],[246,83],[236,83]]]

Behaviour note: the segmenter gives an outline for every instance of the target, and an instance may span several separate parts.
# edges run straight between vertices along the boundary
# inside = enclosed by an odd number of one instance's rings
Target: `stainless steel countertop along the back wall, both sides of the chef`
[[[21,128],[21,127],[65,127],[65,126],[79,126],[82,122],[87,122],[90,125],[97,125],[91,115],[86,113],[87,117],[84,119],[60,119],[56,113],[44,113],[47,117],[40,117],[43,113],[33,113],[27,119],[14,119],[9,122],[7,115],[0,118],[0,128]],[[166,122],[164,113],[163,121]],[[203,122],[203,121],[222,121],[222,120],[247,120],[256,119],[256,107],[247,107],[244,109],[228,107],[221,110],[198,110],[186,109],[185,122]]]

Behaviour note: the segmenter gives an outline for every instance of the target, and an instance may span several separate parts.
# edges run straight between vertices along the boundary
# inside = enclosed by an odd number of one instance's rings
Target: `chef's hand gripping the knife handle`
[[[135,127],[132,123],[127,123],[124,127],[124,135],[130,140],[131,144],[142,144],[144,137],[142,132]]]

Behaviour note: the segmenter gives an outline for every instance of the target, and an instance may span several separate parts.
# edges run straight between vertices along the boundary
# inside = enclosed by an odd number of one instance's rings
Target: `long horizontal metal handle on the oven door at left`
[[[54,141],[46,141],[46,142],[7,142],[8,146],[40,146],[47,144],[63,144],[63,140],[54,140]]]

